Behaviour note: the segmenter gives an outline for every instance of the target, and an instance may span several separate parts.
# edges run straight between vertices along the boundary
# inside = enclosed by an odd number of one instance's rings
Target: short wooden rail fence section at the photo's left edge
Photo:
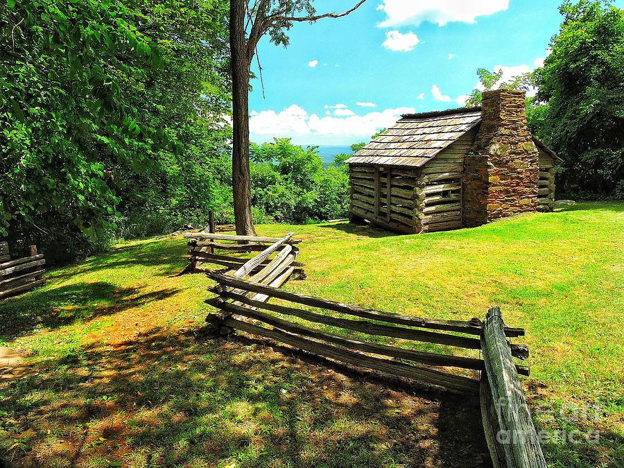
[[[10,258],[6,243],[0,243],[0,251],[3,259]],[[26,293],[44,284],[45,263],[43,254],[37,254],[35,245],[31,245],[29,257],[0,263],[0,299]]]

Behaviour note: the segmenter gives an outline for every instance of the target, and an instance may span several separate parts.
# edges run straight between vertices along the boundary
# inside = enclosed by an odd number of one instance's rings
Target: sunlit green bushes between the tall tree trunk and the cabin
[[[349,210],[345,155],[327,168],[315,146],[303,148],[288,138],[252,144],[252,205],[257,221],[306,223],[343,218]]]

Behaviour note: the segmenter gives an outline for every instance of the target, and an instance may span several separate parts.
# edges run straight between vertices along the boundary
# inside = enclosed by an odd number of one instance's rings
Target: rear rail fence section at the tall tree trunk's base
[[[198,270],[202,264],[213,264],[224,267],[223,270],[236,271],[250,259],[241,257],[241,254],[250,252],[263,252],[268,244],[275,243],[280,239],[277,237],[261,236],[236,236],[233,234],[215,234],[211,232],[193,232],[184,234],[184,238],[189,239],[190,263],[185,272]],[[284,244],[290,245],[288,257],[292,261],[289,266],[294,267],[293,272],[302,275],[303,264],[295,261],[299,250],[295,247],[300,243],[300,239],[289,237]],[[220,251],[220,253],[216,253]],[[291,258],[292,257],[292,258]],[[263,258],[258,264],[254,264],[253,272],[259,272],[270,263],[270,259]]]

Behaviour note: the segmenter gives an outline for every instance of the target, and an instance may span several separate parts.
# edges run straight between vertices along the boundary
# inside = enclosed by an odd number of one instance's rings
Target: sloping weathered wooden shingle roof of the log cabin
[[[346,162],[419,167],[480,121],[480,107],[404,114]]]

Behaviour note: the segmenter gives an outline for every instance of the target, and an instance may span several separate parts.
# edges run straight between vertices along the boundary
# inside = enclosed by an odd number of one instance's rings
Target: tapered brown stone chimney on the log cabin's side
[[[466,226],[537,209],[539,158],[524,106],[523,91],[483,93],[482,121],[464,164]]]

